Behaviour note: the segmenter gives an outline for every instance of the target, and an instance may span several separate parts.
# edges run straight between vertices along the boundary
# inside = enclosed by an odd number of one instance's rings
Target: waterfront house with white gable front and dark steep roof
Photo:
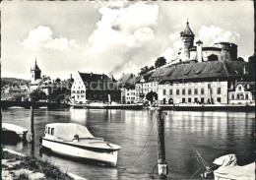
[[[86,101],[121,101],[121,90],[106,75],[76,73],[71,88],[71,98],[75,102]]]

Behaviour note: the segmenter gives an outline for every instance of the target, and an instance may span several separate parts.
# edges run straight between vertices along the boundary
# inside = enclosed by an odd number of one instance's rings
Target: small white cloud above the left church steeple
[[[54,50],[68,50],[71,47],[76,47],[76,41],[62,36],[54,37],[53,31],[49,27],[39,26],[29,32],[28,37],[23,41],[23,45],[33,50],[42,47]]]

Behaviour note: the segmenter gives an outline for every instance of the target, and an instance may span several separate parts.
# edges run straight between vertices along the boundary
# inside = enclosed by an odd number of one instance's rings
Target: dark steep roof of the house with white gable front
[[[105,83],[107,86],[107,89],[111,90],[118,90],[116,83],[112,82],[110,78],[108,78],[106,75],[102,74],[93,74],[93,73],[80,73],[80,77],[83,80],[84,85],[87,87],[87,89],[91,90],[99,90],[97,88],[103,88],[102,83]]]

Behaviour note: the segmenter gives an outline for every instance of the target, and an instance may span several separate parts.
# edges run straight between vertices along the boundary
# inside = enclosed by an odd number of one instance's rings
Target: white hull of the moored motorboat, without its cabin
[[[103,163],[109,166],[116,166],[118,150],[102,150],[82,148],[76,145],[66,144],[42,138],[41,146],[61,155],[68,155],[74,158],[83,158]]]

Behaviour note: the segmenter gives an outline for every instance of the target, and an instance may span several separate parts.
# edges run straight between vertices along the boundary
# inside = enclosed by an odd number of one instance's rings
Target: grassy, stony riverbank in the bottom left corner
[[[72,173],[62,171],[48,160],[35,156],[26,156],[13,150],[2,151],[2,179],[59,179],[86,180]]]

